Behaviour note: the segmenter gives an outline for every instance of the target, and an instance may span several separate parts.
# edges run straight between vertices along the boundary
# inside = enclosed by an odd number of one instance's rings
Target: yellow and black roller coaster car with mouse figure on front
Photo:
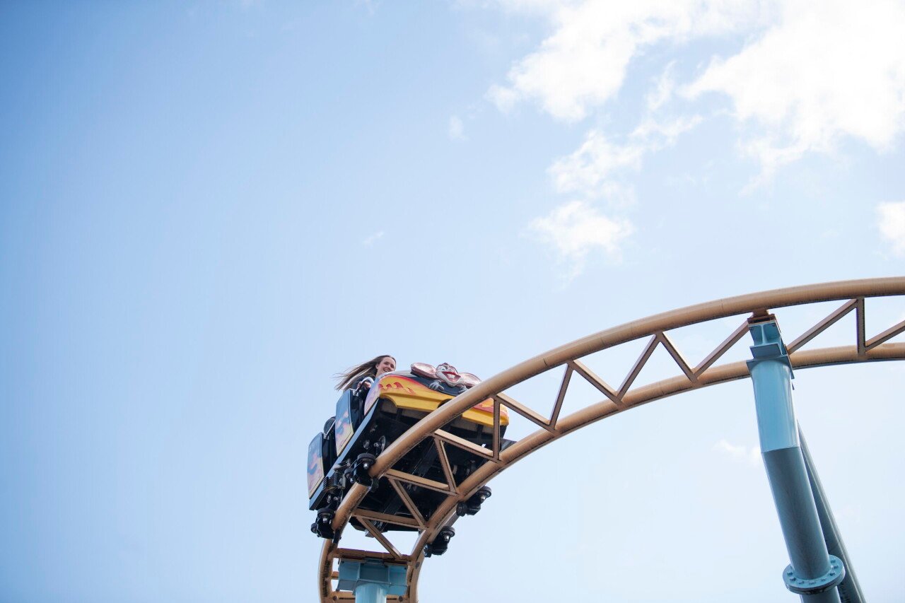
[[[404,523],[412,524],[412,513],[395,488],[386,482],[374,482],[368,471],[387,445],[424,416],[478,383],[479,378],[471,373],[459,373],[448,364],[434,368],[417,362],[409,371],[380,376],[369,389],[359,385],[357,389],[343,392],[337,401],[336,416],[327,420],[323,433],[314,436],[308,447],[309,509],[318,511],[318,518],[311,525],[311,531],[321,538],[338,541],[339,534],[333,532],[330,524],[338,504],[353,483],[361,483],[369,488],[364,500],[358,505],[359,510],[393,515]],[[500,406],[501,447],[510,444],[502,439],[507,425],[509,411]],[[443,426],[443,430],[473,444],[491,448],[493,400],[488,398],[481,401]],[[486,457],[458,446],[445,445],[444,450],[456,485],[487,461]],[[416,445],[394,465],[394,469],[429,480],[424,482],[425,486],[398,483],[424,519],[429,519],[448,495],[441,492],[441,489],[435,489],[448,480],[443,468],[443,458],[434,445],[433,438],[426,438]],[[481,493],[483,496],[475,495],[469,501],[459,504],[459,516],[478,512],[481,502],[490,496],[490,489],[482,488]],[[356,518],[351,523],[358,530],[365,529]],[[388,521],[374,521],[372,524],[379,531],[416,529],[411,525]]]

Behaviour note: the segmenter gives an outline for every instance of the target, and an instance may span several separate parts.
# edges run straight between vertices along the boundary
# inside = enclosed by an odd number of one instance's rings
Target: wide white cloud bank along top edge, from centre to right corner
[[[507,11],[540,15],[551,32],[488,91],[500,110],[537,102],[557,120],[583,120],[623,88],[633,59],[652,48],[738,35],[741,49],[714,57],[691,81],[666,65],[646,104],[717,93],[743,126],[738,148],[762,176],[805,153],[831,152],[841,139],[891,148],[905,131],[905,4],[900,0],[500,0]],[[742,38],[741,36],[745,36]]]

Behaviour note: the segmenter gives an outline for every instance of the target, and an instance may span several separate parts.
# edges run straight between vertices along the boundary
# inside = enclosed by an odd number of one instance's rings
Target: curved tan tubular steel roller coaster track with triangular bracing
[[[600,331],[557,349],[552,349],[533,359],[526,360],[511,369],[501,372],[499,375],[481,382],[426,416],[393,444],[387,446],[386,450],[377,457],[376,464],[372,467],[370,475],[375,479],[386,481],[391,487],[395,488],[411,513],[411,519],[382,516],[379,513],[358,510],[358,505],[367,494],[367,488],[363,485],[355,484],[348,491],[336,512],[333,522],[334,530],[342,531],[346,528],[350,519],[355,517],[374,536],[376,543],[379,543],[385,550],[343,549],[331,541],[324,541],[318,568],[320,601],[322,603],[332,603],[334,601],[355,600],[355,596],[351,592],[339,591],[333,588],[334,580],[338,578],[334,567],[337,560],[379,559],[407,566],[407,592],[399,597],[391,596],[387,600],[415,603],[418,600],[418,577],[424,564],[424,545],[433,541],[443,528],[443,525],[452,518],[457,503],[467,500],[482,485],[488,483],[494,476],[504,471],[511,464],[538,450],[541,446],[547,445],[559,437],[566,436],[581,427],[663,397],[674,396],[691,389],[705,388],[718,383],[748,378],[748,367],[743,361],[722,365],[717,364],[717,361],[748,333],[748,316],[764,316],[774,313],[776,309],[795,305],[843,302],[835,311],[787,344],[789,358],[795,369],[905,359],[905,343],[889,342],[891,338],[905,331],[905,321],[900,321],[872,337],[865,332],[866,311],[864,301],[867,298],[881,296],[905,296],[905,277],[827,282],[701,303]],[[854,313],[855,319],[853,345],[822,349],[802,349],[814,337],[851,313]],[[729,333],[716,349],[713,349],[705,359],[700,361],[700,364],[694,367],[682,357],[679,349],[676,348],[667,335],[667,331],[670,330],[739,315],[748,316],[738,324],[735,330]],[[778,318],[781,319],[781,317]],[[647,343],[641,355],[634,362],[633,368],[629,370],[619,387],[611,387],[581,361],[586,356],[602,349],[612,348],[628,341],[643,338],[647,338]],[[651,359],[654,350],[659,346],[662,346],[675,360],[681,373],[673,378],[635,387],[635,378],[638,377],[645,364]],[[503,393],[507,389],[530,378],[537,377],[541,373],[553,369],[562,369],[563,367],[565,367],[564,375],[553,403],[553,410],[549,415],[542,415]],[[560,416],[560,410],[567,396],[569,383],[574,378],[585,379],[600,391],[603,399],[567,416]],[[492,398],[494,404],[495,426],[492,447],[482,448],[443,431],[443,426],[452,419],[461,416],[464,411],[487,398]],[[536,424],[538,426],[537,431],[501,450],[499,430],[500,405],[508,407],[510,413],[517,413]],[[453,445],[469,450],[487,462],[481,464],[480,468],[458,484],[452,479],[452,472],[449,470],[448,462],[444,463],[446,483],[426,480],[423,477],[395,470],[394,465],[408,451],[426,438],[433,438],[442,460],[446,458],[445,446]],[[433,512],[429,520],[424,519],[405,493],[403,485],[405,483],[438,490],[446,493],[447,498]],[[376,529],[374,522],[389,522],[417,528],[418,538],[413,549],[408,553],[396,550],[392,542],[381,531]]]

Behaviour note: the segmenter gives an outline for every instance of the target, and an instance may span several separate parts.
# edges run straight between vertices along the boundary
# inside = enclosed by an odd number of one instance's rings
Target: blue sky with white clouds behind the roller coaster
[[[348,365],[490,377],[900,275],[903,28],[900,2],[4,3],[0,598],[313,600],[304,455]],[[902,370],[801,373],[892,600]],[[747,382],[588,427],[491,483],[422,598],[791,598],[756,445]]]

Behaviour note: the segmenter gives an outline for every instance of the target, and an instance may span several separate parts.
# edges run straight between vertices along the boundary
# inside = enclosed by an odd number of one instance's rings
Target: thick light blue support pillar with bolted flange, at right
[[[760,452],[776,513],[792,563],[783,572],[786,588],[806,603],[840,603],[836,585],[843,563],[826,550],[824,534],[807,479],[792,407],[792,363],[772,317],[752,322],[754,339],[748,369],[754,385]]]

